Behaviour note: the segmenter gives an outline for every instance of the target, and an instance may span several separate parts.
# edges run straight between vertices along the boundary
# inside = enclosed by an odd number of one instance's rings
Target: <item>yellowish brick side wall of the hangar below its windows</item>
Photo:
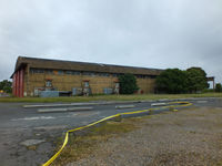
[[[53,71],[51,74],[44,73],[31,73],[27,68],[24,72],[24,96],[34,95],[34,89],[46,87],[46,81],[51,80],[52,86],[58,91],[72,91],[73,87],[83,87],[83,81],[89,81],[92,94],[103,94],[104,89],[113,89],[117,76],[99,76],[99,75],[70,75],[63,73],[59,75],[58,71]],[[141,77],[137,79],[140,87],[139,93],[153,93],[154,92],[154,79]]]

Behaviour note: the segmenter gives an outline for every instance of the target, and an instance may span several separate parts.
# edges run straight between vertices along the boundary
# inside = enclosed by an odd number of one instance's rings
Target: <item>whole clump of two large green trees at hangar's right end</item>
[[[157,77],[158,93],[198,93],[208,87],[206,74],[201,68],[168,69]]]

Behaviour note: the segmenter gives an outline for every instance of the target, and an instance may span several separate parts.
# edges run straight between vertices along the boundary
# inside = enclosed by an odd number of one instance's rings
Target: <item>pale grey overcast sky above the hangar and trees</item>
[[[0,80],[19,55],[201,66],[222,82],[222,1],[0,0]]]

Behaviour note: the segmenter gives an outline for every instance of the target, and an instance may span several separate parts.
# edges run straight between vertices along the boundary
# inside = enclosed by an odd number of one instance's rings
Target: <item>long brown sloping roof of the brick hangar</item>
[[[131,73],[143,75],[159,75],[163,71],[160,69],[19,56],[17,60],[14,72],[18,71],[22,65],[27,64],[29,64],[30,68],[38,69],[73,70],[105,73]]]

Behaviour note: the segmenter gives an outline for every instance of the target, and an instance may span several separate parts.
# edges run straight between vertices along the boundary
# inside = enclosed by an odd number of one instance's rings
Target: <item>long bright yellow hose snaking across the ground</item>
[[[190,103],[190,102],[171,102],[171,103],[168,103],[168,104],[172,104],[172,105],[162,106],[160,108],[185,107],[185,106],[191,106],[192,105],[192,103]],[[181,105],[173,105],[173,104],[181,104]],[[93,122],[91,124],[88,124],[85,126],[81,126],[81,127],[78,127],[78,128],[69,129],[65,133],[64,142],[63,142],[62,146],[60,147],[60,149],[47,163],[44,163],[42,166],[49,166],[54,159],[57,159],[57,157],[61,154],[62,149],[68,144],[69,133],[72,133],[72,132],[75,132],[75,131],[80,131],[80,129],[84,129],[87,127],[93,126],[95,124],[99,124],[101,122],[104,122],[104,121],[108,121],[108,120],[111,120],[113,117],[118,117],[118,116],[121,116],[121,115],[132,115],[132,114],[145,113],[145,112],[149,112],[149,111],[154,111],[154,110],[160,110],[160,108],[148,108],[148,110],[141,110],[141,111],[135,111],[135,112],[119,113],[119,114],[111,115],[111,116],[104,117],[102,120],[99,120],[97,122]],[[173,111],[178,111],[178,110],[173,110]]]

